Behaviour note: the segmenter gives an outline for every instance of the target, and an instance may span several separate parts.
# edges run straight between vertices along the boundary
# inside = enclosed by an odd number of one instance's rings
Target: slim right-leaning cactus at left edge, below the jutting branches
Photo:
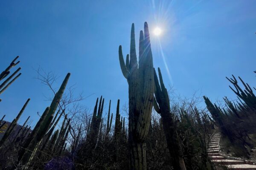
[[[7,128],[6,132],[3,135],[3,138],[0,140],[0,148],[3,147],[3,143],[9,138],[9,136],[11,135],[14,127],[17,125],[17,121],[20,119],[21,114],[23,113],[23,111],[25,110],[27,104],[29,103],[30,99],[27,99],[26,103],[23,105],[23,107],[21,108],[20,112],[18,113],[17,117],[12,121],[12,123],[9,125],[9,127]]]

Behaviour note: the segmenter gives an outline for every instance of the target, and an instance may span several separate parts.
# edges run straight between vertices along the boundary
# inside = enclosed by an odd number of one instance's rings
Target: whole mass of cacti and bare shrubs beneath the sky
[[[120,67],[129,87],[129,102],[124,106],[119,99],[105,101],[99,96],[92,111],[85,109],[79,104],[84,97],[72,95],[73,89],[67,88],[70,73],[55,91],[54,75],[38,70],[38,79],[52,89],[54,97],[35,127],[29,126],[29,117],[17,126],[30,99],[10,124],[1,115],[0,169],[215,170],[207,155],[214,127],[219,127],[230,146],[227,152],[250,156],[256,133],[255,88],[240,77],[243,88],[236,77],[227,78],[238,100],[224,97],[225,104],[217,105],[204,96],[204,108],[198,105],[200,97],[180,98],[166,88],[160,68],[156,71],[153,65],[147,23],[140,31],[138,54],[137,58],[132,24],[130,55],[125,60],[119,46]],[[0,94],[20,76],[20,68],[11,74],[17,58],[0,74]]]

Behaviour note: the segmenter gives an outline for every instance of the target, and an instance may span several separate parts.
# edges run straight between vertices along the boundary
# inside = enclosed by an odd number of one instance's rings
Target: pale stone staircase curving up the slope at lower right
[[[224,156],[220,153],[219,141],[221,138],[221,133],[216,129],[213,134],[210,143],[208,145],[208,156],[211,158],[212,162],[216,166],[224,165],[230,170],[256,170],[256,165],[246,164],[245,161],[228,159],[227,156]],[[247,162],[248,163],[248,162]]]

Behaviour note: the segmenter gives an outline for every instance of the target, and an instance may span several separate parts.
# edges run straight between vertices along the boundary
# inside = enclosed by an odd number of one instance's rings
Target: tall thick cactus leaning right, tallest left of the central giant
[[[30,137],[26,140],[23,149],[20,150],[18,161],[20,164],[29,164],[29,161],[32,160],[35,152],[37,150],[38,144],[40,144],[41,139],[47,133],[49,126],[52,122],[53,115],[58,108],[59,102],[61,100],[62,94],[66,88],[70,73],[67,74],[64,81],[61,84],[60,89],[55,94],[50,107],[46,109],[43,113],[44,117],[39,120],[39,124],[36,125]]]

